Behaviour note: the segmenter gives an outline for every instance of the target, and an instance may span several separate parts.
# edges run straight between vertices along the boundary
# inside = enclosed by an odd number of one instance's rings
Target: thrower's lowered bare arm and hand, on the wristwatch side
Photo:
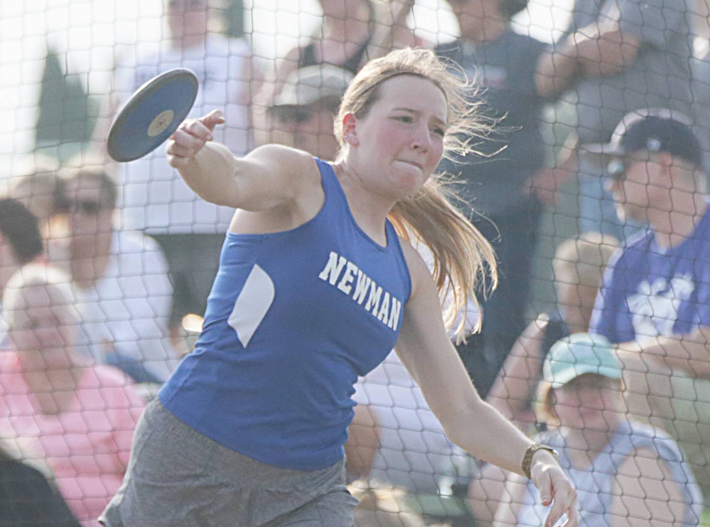
[[[412,275],[412,294],[405,305],[397,354],[419,384],[435,416],[452,442],[475,457],[522,474],[523,455],[530,439],[481,400],[471,384],[442,320],[439,295],[424,260],[403,243]],[[546,526],[568,514],[566,526],[577,525],[577,493],[546,450],[532,458],[532,482],[542,504],[552,503]]]

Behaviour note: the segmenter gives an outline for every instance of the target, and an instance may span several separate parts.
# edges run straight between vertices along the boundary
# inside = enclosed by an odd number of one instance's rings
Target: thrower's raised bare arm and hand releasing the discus
[[[224,123],[220,111],[188,119],[170,136],[165,151],[171,167],[205,201],[247,211],[268,211],[294,201],[308,183],[310,155],[280,145],[264,145],[237,159],[212,143],[212,131]]]

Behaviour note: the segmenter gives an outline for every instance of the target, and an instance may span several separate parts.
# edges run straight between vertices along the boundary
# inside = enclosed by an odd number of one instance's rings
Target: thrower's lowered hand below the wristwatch
[[[544,456],[544,457],[543,457]],[[539,457],[539,460],[536,459]],[[562,472],[555,459],[546,453],[535,455],[530,470],[530,479],[540,491],[540,499],[545,506],[552,505],[545,520],[545,527],[557,525],[559,518],[567,514],[563,527],[577,527],[577,491],[574,490],[567,476]]]

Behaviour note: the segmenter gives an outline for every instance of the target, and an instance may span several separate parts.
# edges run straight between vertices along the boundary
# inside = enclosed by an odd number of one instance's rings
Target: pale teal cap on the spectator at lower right
[[[586,373],[621,379],[621,361],[601,335],[574,333],[558,340],[542,365],[542,376],[553,389]]]

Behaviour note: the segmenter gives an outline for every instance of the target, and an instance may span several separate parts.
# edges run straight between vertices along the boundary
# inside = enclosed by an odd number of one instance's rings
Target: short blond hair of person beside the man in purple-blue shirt
[[[599,287],[611,255],[618,248],[618,240],[601,233],[585,233],[569,238],[557,246],[552,268],[555,282]]]

